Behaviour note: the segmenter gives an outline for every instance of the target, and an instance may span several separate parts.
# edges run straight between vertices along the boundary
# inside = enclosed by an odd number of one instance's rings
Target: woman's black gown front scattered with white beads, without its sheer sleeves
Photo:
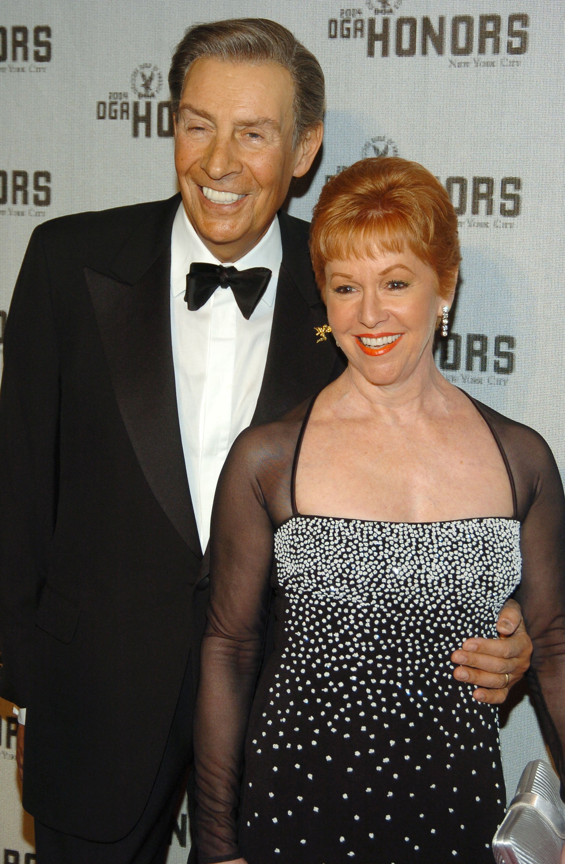
[[[261,854],[285,864],[491,861],[496,709],[449,658],[495,635],[520,581],[518,522],[295,516],[275,557],[282,613],[249,726],[243,847],[267,824]]]

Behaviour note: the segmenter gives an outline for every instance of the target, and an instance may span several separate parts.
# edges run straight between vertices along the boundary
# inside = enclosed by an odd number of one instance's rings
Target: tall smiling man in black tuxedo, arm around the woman
[[[169,81],[180,194],[36,229],[5,327],[2,696],[27,711],[39,864],[164,860],[217,475],[249,422],[344,367],[308,225],[281,210],[322,141],[317,60],[273,22],[219,22]],[[501,701],[528,639],[479,643],[457,674]]]

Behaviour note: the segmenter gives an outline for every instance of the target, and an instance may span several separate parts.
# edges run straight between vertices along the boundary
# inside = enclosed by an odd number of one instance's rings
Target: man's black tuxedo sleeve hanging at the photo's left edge
[[[57,505],[60,373],[45,227],[30,239],[10,304],[0,390],[0,695],[20,706]]]

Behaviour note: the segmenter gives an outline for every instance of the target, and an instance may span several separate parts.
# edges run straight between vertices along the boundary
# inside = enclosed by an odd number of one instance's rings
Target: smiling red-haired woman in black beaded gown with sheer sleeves
[[[563,776],[565,507],[540,435],[436,369],[460,260],[400,159],[323,189],[312,260],[348,358],[235,442],[218,486],[195,726],[200,864],[493,861],[496,708],[446,658],[518,589]],[[268,600],[276,647],[259,683]]]

